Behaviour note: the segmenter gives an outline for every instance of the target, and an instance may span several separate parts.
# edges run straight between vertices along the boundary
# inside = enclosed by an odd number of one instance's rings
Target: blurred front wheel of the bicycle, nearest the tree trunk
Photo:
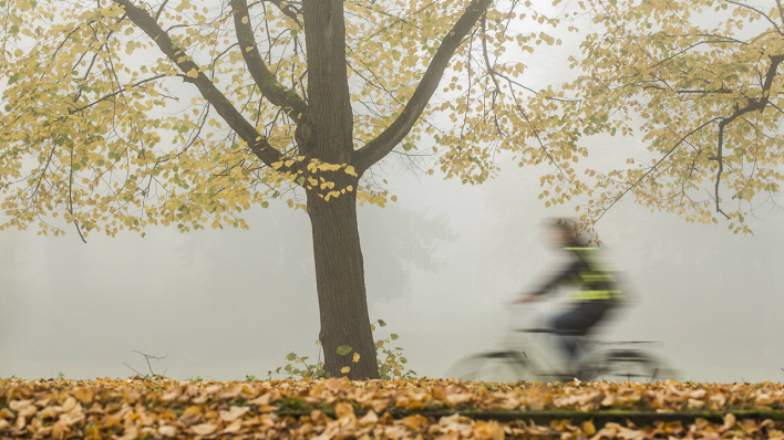
[[[489,352],[468,356],[455,364],[447,377],[487,383],[536,380],[530,364],[516,352]]]

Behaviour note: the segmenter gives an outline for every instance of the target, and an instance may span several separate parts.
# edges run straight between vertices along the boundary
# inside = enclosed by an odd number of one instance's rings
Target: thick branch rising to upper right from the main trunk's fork
[[[400,116],[373,140],[354,151],[353,164],[358,174],[361,175],[373,164],[383,159],[411,132],[437,88],[450,59],[491,3],[492,0],[472,0],[463,17],[444,36],[441,46],[427,66],[427,71]]]

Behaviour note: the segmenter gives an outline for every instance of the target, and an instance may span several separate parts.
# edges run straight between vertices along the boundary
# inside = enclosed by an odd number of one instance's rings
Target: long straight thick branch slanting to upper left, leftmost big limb
[[[248,147],[258,158],[268,166],[279,163],[283,155],[275,149],[261,134],[235,108],[229,99],[218,91],[212,81],[199,71],[199,66],[188,56],[183,49],[175,49],[172,39],[155,22],[155,20],[143,9],[134,6],[131,0],[113,0],[116,4],[125,8],[128,18],[146,33],[158,45],[161,51],[185,73],[184,81],[193,83],[202,93],[202,96],[209,102],[218,112],[220,117],[237,133],[237,135],[248,144]],[[195,74],[196,76],[187,76]],[[288,171],[283,166],[279,171]]]

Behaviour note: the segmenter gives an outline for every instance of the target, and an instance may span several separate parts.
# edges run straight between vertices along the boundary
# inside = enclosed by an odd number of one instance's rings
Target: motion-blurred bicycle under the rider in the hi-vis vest
[[[530,338],[539,334],[557,334],[548,328],[514,329]],[[561,336],[559,336],[561,337]],[[575,374],[558,371],[550,363],[534,360],[537,347],[527,338],[503,339],[504,349],[478,353],[463,358],[455,364],[447,377],[462,380],[481,380],[488,383],[517,381],[571,381]],[[513,346],[512,343],[519,345]],[[651,341],[596,342],[581,338],[582,352],[586,353],[578,363],[579,379],[596,380],[663,380],[678,376],[679,371],[669,367],[658,355],[639,348],[615,348],[617,346],[638,346],[656,344]],[[607,349],[597,349],[609,346]],[[535,357],[535,356],[534,356]]]

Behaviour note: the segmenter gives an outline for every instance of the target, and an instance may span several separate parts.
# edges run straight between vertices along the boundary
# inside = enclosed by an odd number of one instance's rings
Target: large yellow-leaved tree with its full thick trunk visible
[[[585,149],[559,116],[529,119],[524,65],[503,59],[558,43],[522,20],[558,21],[491,3],[0,2],[2,228],[247,228],[251,203],[285,199],[312,224],[326,369],[378,377],[355,209],[395,198],[374,166],[437,161],[481,184],[510,150],[580,185],[569,164]]]

